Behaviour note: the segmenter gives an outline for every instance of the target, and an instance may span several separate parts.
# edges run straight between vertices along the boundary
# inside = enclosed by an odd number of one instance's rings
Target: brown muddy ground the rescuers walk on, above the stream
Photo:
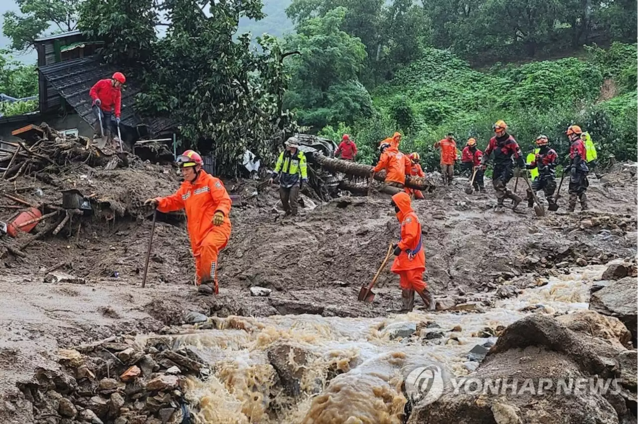
[[[356,300],[360,286],[370,281],[387,245],[399,234],[389,197],[382,194],[319,204],[295,220],[282,219],[274,211],[275,187],[251,197],[246,206],[234,207],[215,298],[197,295],[193,286],[183,216],[159,215],[149,279],[141,288],[151,230],[151,211],[142,202],[170,194],[179,180],[170,166],[132,157],[129,162],[128,167],[110,171],[70,164],[48,173],[47,183],[41,176],[0,183],[4,193],[34,203],[61,204],[60,190],[78,188],[85,195],[96,194],[94,206],[100,209],[96,215],[75,219],[57,237],[31,244],[25,249],[27,258],[4,253],[2,422],[25,422],[20,417],[26,416],[28,406],[16,401],[15,383],[31,378],[35,367],[56,367],[59,347],[112,334],[167,331],[165,327],[180,325],[191,310],[218,316],[385,316],[400,306],[398,279],[387,270],[373,304]],[[565,212],[567,184],[560,211],[547,212],[544,218],[524,204],[517,212],[495,213],[491,187],[486,194],[467,195],[460,179],[452,188],[436,188],[426,200],[415,202],[424,228],[426,279],[441,307],[472,300],[489,307],[502,283],[511,280],[521,288],[535,284],[531,278],[519,278],[526,271],[542,276],[582,261],[605,263],[634,255],[638,188],[631,181],[636,170],[617,165],[601,181],[591,178],[591,210],[586,212]],[[226,181],[226,188],[245,199],[255,192],[256,182]],[[3,204],[13,203],[3,199]],[[0,210],[1,218],[8,219],[12,212]],[[20,237],[9,243],[19,241]],[[67,263],[62,271],[85,283],[43,282],[44,271],[61,262]],[[268,297],[251,297],[251,286],[273,291]]]

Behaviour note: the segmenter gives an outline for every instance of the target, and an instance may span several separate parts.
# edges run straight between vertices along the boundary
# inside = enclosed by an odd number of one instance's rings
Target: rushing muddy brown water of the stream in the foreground
[[[199,404],[196,422],[205,424],[398,424],[406,402],[401,391],[406,372],[435,363],[457,376],[468,374],[477,364],[468,361],[467,353],[490,340],[478,337],[482,330],[507,326],[534,313],[521,309],[537,304],[543,307],[535,313],[551,315],[587,309],[591,283],[607,266],[572,269],[570,274],[549,278],[544,286],[498,300],[484,313],[218,318],[217,330],[174,336],[174,343],[195,348],[213,370],[205,381],[189,379],[187,398],[191,405]],[[387,326],[401,322],[415,323],[417,332],[410,338],[390,339]],[[442,332],[443,337],[426,339],[431,331]],[[296,396],[277,384],[267,355],[269,349],[284,344],[308,352],[303,364],[297,364],[293,355],[288,358],[301,374]]]

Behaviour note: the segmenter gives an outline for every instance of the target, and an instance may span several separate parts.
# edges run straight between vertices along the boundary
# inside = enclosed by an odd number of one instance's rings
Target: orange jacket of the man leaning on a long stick
[[[226,238],[230,238],[230,196],[219,178],[200,171],[194,183],[184,181],[179,190],[167,197],[158,199],[158,211],[172,212],[186,209],[188,235],[191,237],[193,253],[197,255],[200,244],[213,229],[219,229]],[[216,211],[224,213],[224,222],[216,227],[212,216]]]

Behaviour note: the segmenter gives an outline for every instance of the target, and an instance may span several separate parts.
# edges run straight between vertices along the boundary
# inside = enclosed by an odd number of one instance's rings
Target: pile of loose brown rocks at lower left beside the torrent
[[[210,372],[197,352],[172,350],[162,339],[140,346],[132,336],[110,337],[58,355],[61,369],[37,369],[18,385],[33,404],[33,423],[190,422],[186,375]]]

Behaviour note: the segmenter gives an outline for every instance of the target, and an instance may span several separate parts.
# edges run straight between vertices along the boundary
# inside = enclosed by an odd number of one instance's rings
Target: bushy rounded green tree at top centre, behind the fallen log
[[[316,129],[353,122],[371,111],[371,97],[359,82],[366,48],[341,29],[345,16],[346,9],[338,7],[309,18],[288,38],[288,48],[301,54],[292,60],[293,82],[285,104],[297,111],[302,124]]]

